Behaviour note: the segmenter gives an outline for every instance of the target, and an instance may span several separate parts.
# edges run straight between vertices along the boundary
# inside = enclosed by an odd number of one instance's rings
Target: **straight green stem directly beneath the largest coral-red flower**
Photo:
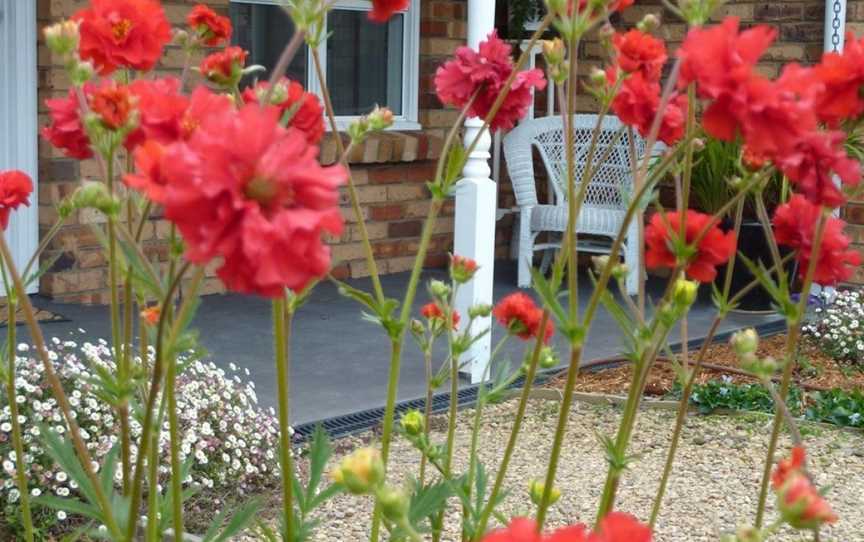
[[[292,477],[294,466],[291,457],[291,420],[289,404],[289,342],[291,319],[285,297],[273,300],[273,347],[276,355],[276,393],[279,403],[279,466],[282,469],[282,515],[285,540],[294,540],[294,505]]]

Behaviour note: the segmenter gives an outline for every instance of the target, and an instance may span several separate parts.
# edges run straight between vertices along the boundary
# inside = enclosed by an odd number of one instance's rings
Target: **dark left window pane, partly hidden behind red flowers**
[[[232,41],[235,45],[249,51],[247,65],[260,64],[267,68],[255,77],[266,80],[270,70],[279,61],[279,55],[294,34],[294,23],[285,11],[274,5],[264,4],[231,4],[231,24],[234,25]],[[306,81],[306,46],[304,45],[291,61],[286,75],[303,86]],[[243,85],[251,84],[252,80],[243,81]]]

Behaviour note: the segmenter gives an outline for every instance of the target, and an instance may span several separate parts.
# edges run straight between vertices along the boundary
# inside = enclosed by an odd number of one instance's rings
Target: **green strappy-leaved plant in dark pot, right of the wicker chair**
[[[726,142],[706,137],[704,145],[693,156],[693,173],[691,181],[691,206],[707,214],[716,214],[732,197],[734,190],[730,181],[739,173],[741,163],[741,144],[737,141]],[[768,214],[784,200],[786,183],[783,177],[775,174],[762,192]],[[732,228],[735,218],[734,210],[723,217],[724,226]],[[738,253],[754,263],[760,263],[766,268],[773,265],[769,241],[765,236],[765,228],[758,217],[755,198],[751,197],[744,204],[741,229],[738,234]],[[753,274],[742,258],[735,260],[732,272],[730,296],[746,288],[753,282]],[[790,264],[787,273],[795,271]],[[794,274],[793,274],[794,276]],[[725,273],[717,274],[717,281],[722,282]],[[718,283],[718,287],[722,284]],[[762,287],[756,286],[740,297],[736,305],[738,311],[772,312],[771,295]]]

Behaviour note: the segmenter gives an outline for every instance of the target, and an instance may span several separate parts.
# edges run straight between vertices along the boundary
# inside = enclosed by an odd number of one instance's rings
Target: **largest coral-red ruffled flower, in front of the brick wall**
[[[254,104],[208,115],[161,161],[165,217],[183,235],[186,257],[222,257],[217,274],[229,289],[266,297],[327,273],[321,236],[342,230],[346,179],[341,166],[322,167],[317,149],[278,116]]]

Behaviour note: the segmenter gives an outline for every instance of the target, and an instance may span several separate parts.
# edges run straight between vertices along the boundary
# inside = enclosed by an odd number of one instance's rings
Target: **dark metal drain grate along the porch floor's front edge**
[[[759,332],[760,336],[768,336],[774,335],[776,333],[780,333],[786,329],[785,322],[782,319],[766,322],[764,324],[760,324],[757,326],[753,326],[756,328],[756,331]],[[728,341],[729,338],[735,331],[725,331],[721,333],[717,333],[714,336],[714,342],[725,342]],[[702,344],[703,339],[692,339],[688,343],[688,347],[692,350],[697,348]],[[680,343],[676,343],[670,345],[670,348],[674,352],[678,352],[681,350]],[[600,369],[601,367],[597,367],[596,369]],[[606,368],[606,367],[603,367]],[[566,370],[566,368],[555,368],[550,369],[548,371],[543,371],[537,374],[534,384],[542,385],[549,380],[555,378]],[[523,382],[525,382],[525,377],[520,376],[516,379],[511,385],[510,388],[519,388],[522,386]],[[472,386],[467,386],[461,390],[459,390],[459,406],[464,407],[466,405],[472,404],[477,400],[477,390],[479,389],[478,384],[474,384]],[[399,418],[399,414],[411,410],[417,409],[422,411],[425,405],[425,398],[419,399],[411,399],[407,401],[402,401],[396,404],[396,419]],[[444,392],[435,395],[432,398],[432,412],[435,414],[445,412],[450,405],[450,393]],[[360,433],[366,430],[369,430],[378,424],[381,423],[381,420],[384,419],[384,408],[370,408],[368,410],[362,410],[360,412],[354,412],[351,414],[345,414],[343,416],[336,416],[333,418],[327,418],[325,420],[320,420],[316,422],[309,422],[298,425],[294,427],[295,432],[295,440],[297,442],[305,441],[312,432],[315,430],[315,427],[322,426],[324,430],[330,435],[331,438],[344,437],[348,435],[352,435],[355,433]]]

